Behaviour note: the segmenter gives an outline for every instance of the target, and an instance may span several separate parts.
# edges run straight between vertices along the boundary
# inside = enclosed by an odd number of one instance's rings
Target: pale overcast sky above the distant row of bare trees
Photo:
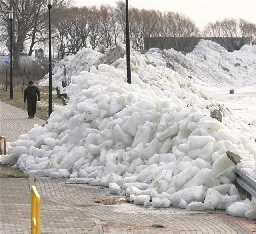
[[[76,6],[116,6],[117,0],[76,0]],[[123,0],[125,2],[125,0]],[[178,12],[186,15],[198,28],[224,18],[242,18],[256,24],[256,0],[128,0],[129,7]]]

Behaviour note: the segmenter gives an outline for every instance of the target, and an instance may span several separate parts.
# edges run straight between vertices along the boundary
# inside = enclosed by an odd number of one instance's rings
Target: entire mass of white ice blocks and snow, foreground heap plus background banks
[[[145,207],[226,209],[256,218],[255,198],[238,191],[236,166],[226,156],[241,156],[239,167],[256,178],[255,119],[236,118],[197,88],[255,86],[255,49],[228,53],[202,40],[186,56],[131,51],[132,84],[126,82],[124,45],[105,54],[83,49],[61,62],[74,74],[64,89],[69,104],[55,105],[45,126],[9,143],[0,162],[34,176],[109,186],[112,194],[122,188]],[[60,85],[61,64],[54,74]]]

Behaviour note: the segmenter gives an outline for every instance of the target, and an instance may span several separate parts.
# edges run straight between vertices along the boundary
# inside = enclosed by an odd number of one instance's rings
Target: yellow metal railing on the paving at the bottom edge
[[[31,234],[40,234],[41,232],[41,198],[36,190],[36,186],[31,187]]]

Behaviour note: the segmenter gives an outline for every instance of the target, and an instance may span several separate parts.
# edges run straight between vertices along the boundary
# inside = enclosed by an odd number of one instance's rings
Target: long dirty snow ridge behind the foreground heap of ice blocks
[[[196,48],[186,55],[173,49],[150,49],[146,54],[140,54],[131,50],[131,69],[137,73],[145,64],[154,66],[166,66],[175,70],[180,76],[193,79],[197,87],[244,87],[256,84],[256,46],[243,46],[239,51],[232,53],[209,40],[200,40]],[[124,45],[117,44],[107,48],[106,53],[101,54],[92,49],[83,48],[76,56],[66,56],[53,70],[53,86],[62,86],[64,80],[64,68],[72,75],[78,75],[80,71],[89,71],[91,66],[108,64],[115,68],[126,69],[126,55]],[[48,75],[39,83],[48,85]]]

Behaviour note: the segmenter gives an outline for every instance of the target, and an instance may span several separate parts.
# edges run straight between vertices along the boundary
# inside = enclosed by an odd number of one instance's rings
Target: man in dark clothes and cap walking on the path
[[[40,90],[36,86],[32,80],[28,82],[28,87],[24,90],[24,103],[28,101],[28,118],[35,118],[36,114],[36,102],[40,101]]]

